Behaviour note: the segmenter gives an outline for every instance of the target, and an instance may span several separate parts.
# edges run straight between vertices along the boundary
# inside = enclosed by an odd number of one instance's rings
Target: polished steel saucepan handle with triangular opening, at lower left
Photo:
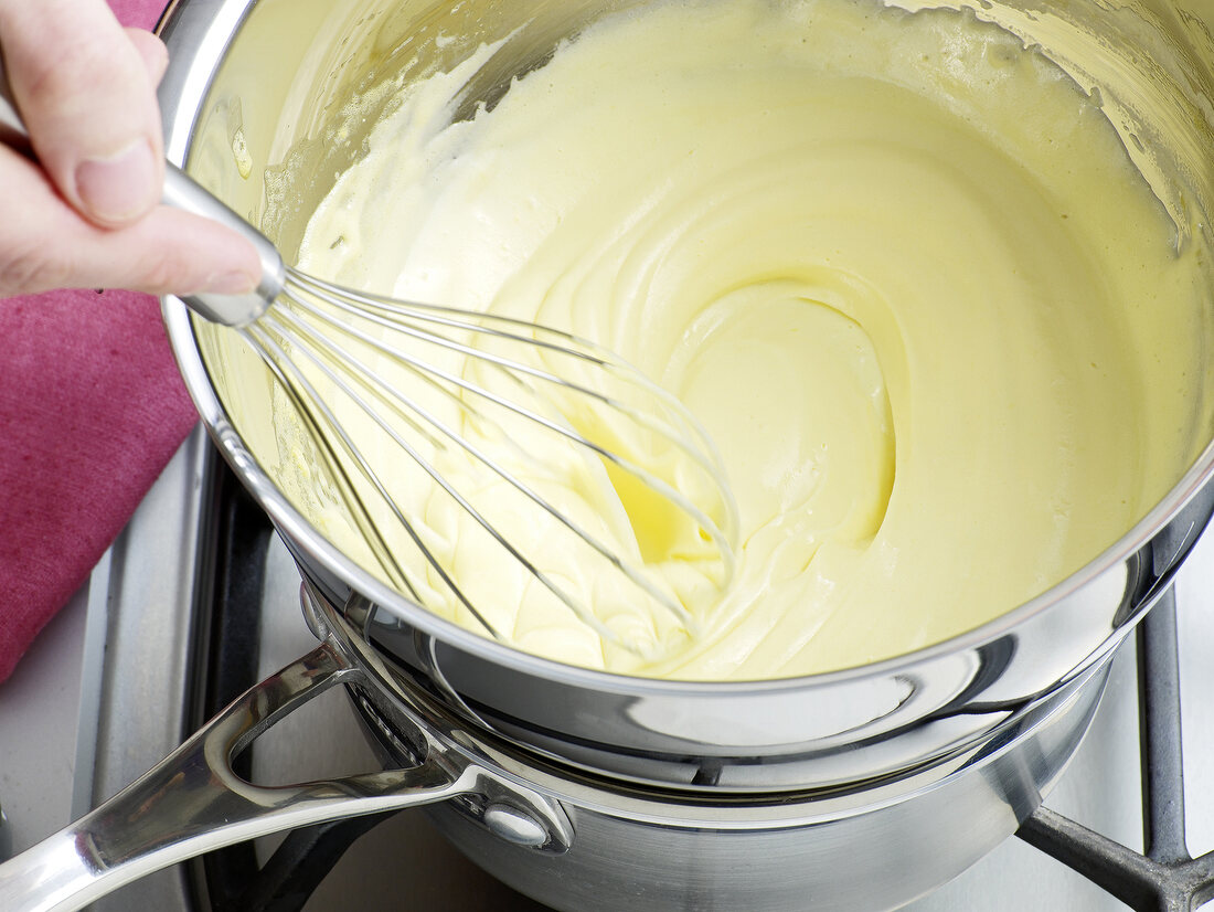
[[[159,765],[39,845],[0,865],[5,912],[68,912],[146,874],[310,823],[441,801],[483,770],[431,753],[410,769],[255,786],[233,758],[279,718],[361,673],[324,644],[239,697]]]

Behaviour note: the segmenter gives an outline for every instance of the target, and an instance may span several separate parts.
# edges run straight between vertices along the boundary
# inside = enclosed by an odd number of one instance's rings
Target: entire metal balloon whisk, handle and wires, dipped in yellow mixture
[[[27,140],[0,58],[0,141]],[[568,333],[301,274],[172,164],[164,202],[256,245],[254,294],[183,301],[261,356],[393,585],[424,606],[466,611],[499,640],[526,639],[492,619],[507,577],[516,589],[539,585],[605,642],[642,656],[660,655],[671,636],[694,636],[688,604],[728,583],[736,515],[708,437],[677,400]],[[554,485],[569,480],[585,497],[555,503]],[[443,527],[438,511],[427,522],[432,504],[418,502],[419,489],[442,492],[461,521]],[[467,563],[460,542],[475,537],[528,582],[492,557],[455,566]],[[614,583],[603,584],[595,561]],[[657,572],[663,563],[677,572]],[[473,584],[488,593],[473,597]]]

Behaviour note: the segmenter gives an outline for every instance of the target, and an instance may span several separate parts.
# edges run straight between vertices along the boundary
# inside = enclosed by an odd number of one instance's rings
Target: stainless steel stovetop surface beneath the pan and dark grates
[[[130,527],[81,593],[52,624],[17,675],[0,687],[0,805],[15,850],[36,842],[151,767],[193,727],[208,702],[222,698],[206,672],[225,650],[248,651],[260,680],[314,646],[299,607],[299,576],[277,537],[239,510],[202,432],[182,447]],[[214,578],[216,523],[248,534],[255,563]],[[229,528],[229,532],[232,529]],[[260,545],[256,542],[261,542]],[[260,618],[227,623],[217,636],[210,605],[236,588],[260,605]],[[1198,543],[1176,583],[1191,854],[1214,849],[1214,534]],[[250,612],[251,613],[251,612]],[[226,646],[223,644],[227,644]],[[1078,755],[1046,806],[1128,848],[1142,849],[1138,679],[1133,638]],[[250,679],[240,687],[253,684]],[[209,691],[210,689],[210,691]],[[253,749],[254,780],[285,783],[376,769],[354,715],[335,690],[297,710]],[[259,842],[265,860],[280,838]],[[2,845],[2,840],[0,840]],[[243,850],[242,850],[243,851]],[[246,852],[248,854],[248,852]],[[226,863],[226,862],[225,862]],[[250,856],[251,863],[251,856]],[[875,862],[881,863],[881,862]],[[222,907],[205,894],[214,860],[160,872],[124,888],[98,912],[204,912]],[[239,869],[239,867],[238,867]],[[439,837],[424,810],[386,820],[353,843],[305,905],[334,910],[540,910],[465,860]],[[811,906],[810,906],[811,907]],[[1128,906],[1080,874],[1012,838],[913,912],[1105,912]]]

